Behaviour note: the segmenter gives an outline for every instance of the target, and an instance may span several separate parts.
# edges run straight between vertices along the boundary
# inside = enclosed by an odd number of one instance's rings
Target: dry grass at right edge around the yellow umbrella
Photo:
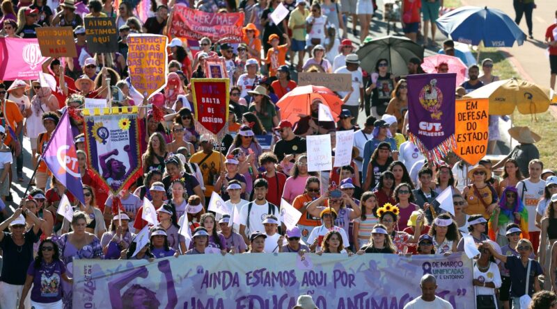
[[[473,55],[475,57],[477,56],[476,53],[473,53]],[[480,48],[480,61],[478,63],[481,63],[485,58],[491,58],[493,60],[494,75],[501,76],[501,79],[521,77],[517,74],[511,62],[505,58],[505,53],[493,48]],[[557,170],[557,157],[555,155],[557,137],[554,134],[556,120],[554,115],[551,115],[551,112],[548,110],[547,112],[536,114],[535,117],[533,117],[533,115],[522,115],[515,110],[512,119],[513,126],[528,126],[531,131],[538,133],[538,135],[542,137],[542,140],[536,143],[536,147],[538,147],[540,151],[540,159],[545,164],[544,168]]]

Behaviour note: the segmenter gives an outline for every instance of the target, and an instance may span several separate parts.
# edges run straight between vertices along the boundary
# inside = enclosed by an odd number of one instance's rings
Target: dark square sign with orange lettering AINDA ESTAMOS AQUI
[[[118,51],[116,17],[86,17],[85,37],[90,53],[114,53]]]

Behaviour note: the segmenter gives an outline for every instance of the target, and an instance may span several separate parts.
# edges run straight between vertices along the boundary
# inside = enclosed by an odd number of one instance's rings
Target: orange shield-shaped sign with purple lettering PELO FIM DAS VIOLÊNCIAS
[[[166,85],[166,40],[155,34],[130,34],[127,36],[127,66],[134,88],[150,97]]]

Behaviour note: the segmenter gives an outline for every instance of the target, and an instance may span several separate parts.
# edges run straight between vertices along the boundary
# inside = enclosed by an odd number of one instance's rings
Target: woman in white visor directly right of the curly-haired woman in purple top
[[[100,240],[105,260],[118,260],[121,252],[130,247],[135,234],[130,233],[129,223],[130,217],[125,213],[115,215],[112,218],[109,231],[104,233]]]

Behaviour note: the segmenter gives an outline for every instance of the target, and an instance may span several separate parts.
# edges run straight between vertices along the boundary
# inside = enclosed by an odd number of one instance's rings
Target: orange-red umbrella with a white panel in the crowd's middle
[[[333,117],[338,120],[342,110],[343,100],[327,87],[299,86],[285,94],[276,105],[281,108],[281,119],[287,119],[294,124],[301,115],[311,115],[310,105],[313,101],[320,101],[331,109]]]

